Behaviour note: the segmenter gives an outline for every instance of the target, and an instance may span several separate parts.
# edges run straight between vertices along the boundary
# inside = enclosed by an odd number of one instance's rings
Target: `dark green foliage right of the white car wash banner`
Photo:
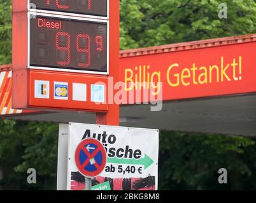
[[[164,131],[160,135],[162,189],[255,189],[255,138]],[[218,169],[228,185],[218,183]]]

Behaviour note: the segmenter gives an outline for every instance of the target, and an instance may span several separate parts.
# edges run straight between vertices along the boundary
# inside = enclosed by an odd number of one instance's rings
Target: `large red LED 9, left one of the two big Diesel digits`
[[[60,46],[59,37],[64,36],[67,38],[67,46]],[[69,65],[70,64],[70,35],[67,32],[57,32],[56,34],[56,49],[58,51],[67,51],[67,61],[57,62],[58,65]]]

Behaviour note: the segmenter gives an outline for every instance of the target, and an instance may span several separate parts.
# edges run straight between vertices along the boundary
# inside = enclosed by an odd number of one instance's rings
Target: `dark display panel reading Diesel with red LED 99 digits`
[[[30,65],[108,72],[107,23],[36,16],[30,20]]]

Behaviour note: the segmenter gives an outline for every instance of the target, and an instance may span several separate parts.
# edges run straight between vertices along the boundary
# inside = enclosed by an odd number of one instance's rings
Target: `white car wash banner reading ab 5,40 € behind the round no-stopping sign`
[[[86,138],[100,141],[106,150],[106,167],[92,178],[95,190],[157,190],[159,130],[69,123],[68,190],[85,190],[85,176],[76,166],[76,148]],[[92,150],[87,146],[84,150]],[[97,160],[85,169],[96,169]],[[89,166],[90,165],[90,166]],[[104,187],[97,187],[103,185]],[[107,187],[106,187],[107,186]]]

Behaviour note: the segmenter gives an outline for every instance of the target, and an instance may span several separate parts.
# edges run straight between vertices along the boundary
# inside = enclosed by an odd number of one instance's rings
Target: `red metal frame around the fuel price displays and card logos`
[[[116,104],[108,105],[95,105],[92,102],[82,105],[78,105],[77,102],[68,101],[65,105],[63,102],[59,102],[60,105],[54,103],[53,107],[50,107],[50,103],[43,106],[40,101],[36,101],[33,98],[33,80],[35,77],[32,75],[40,76],[40,71],[27,69],[27,0],[13,0],[13,76],[12,76],[12,107],[16,109],[60,109],[60,110],[85,110],[97,112],[96,122],[99,124],[119,125],[119,106]],[[110,1],[110,74],[109,77],[113,77],[114,82],[119,79],[119,1]],[[50,75],[51,71],[41,71]],[[66,77],[65,72],[56,72],[59,77]],[[106,76],[89,75],[89,74],[71,74],[71,77],[77,77],[78,75],[83,78],[83,81],[97,81],[107,83]],[[31,80],[31,78],[33,78]],[[58,78],[58,77],[57,77]],[[94,78],[92,80],[92,78]],[[56,75],[55,75],[56,79]],[[52,80],[52,78],[50,79]],[[56,79],[57,80],[57,79]],[[57,80],[59,81],[59,80]],[[76,82],[76,81],[75,81]],[[87,88],[88,89],[88,88]],[[50,100],[53,101],[53,100]],[[50,102],[49,101],[49,102]],[[57,102],[57,101],[55,101]],[[69,105],[69,107],[68,107]]]

